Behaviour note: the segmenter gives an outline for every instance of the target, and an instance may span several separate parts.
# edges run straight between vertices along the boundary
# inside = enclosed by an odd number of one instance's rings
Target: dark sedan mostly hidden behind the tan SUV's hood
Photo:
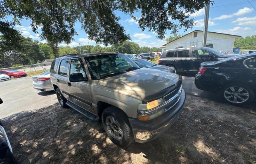
[[[133,61],[141,68],[146,67],[146,68],[152,68],[152,69],[158,69],[161,71],[176,73],[176,70],[174,69],[174,67],[168,67],[165,65],[156,65],[145,59],[134,59]]]

